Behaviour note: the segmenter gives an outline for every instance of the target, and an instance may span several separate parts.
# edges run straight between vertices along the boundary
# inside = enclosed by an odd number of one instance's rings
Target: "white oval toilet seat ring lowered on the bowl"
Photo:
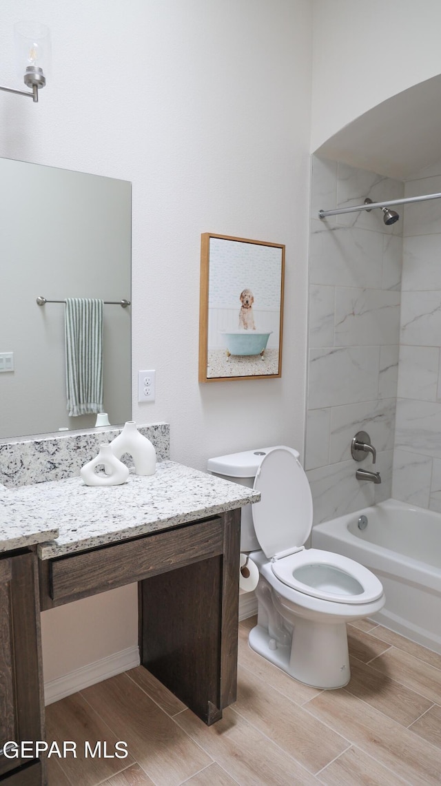
[[[383,594],[381,582],[366,567],[321,549],[281,557],[271,562],[271,570],[286,586],[323,601],[366,604]]]

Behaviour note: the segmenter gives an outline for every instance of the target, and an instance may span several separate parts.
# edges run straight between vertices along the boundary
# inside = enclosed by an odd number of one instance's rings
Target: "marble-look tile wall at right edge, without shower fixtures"
[[[441,162],[405,196],[441,193]],[[392,494],[441,512],[441,200],[406,205]]]

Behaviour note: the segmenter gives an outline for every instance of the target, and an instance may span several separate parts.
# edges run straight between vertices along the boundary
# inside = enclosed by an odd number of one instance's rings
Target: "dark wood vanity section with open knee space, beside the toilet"
[[[207,725],[236,700],[241,511],[39,561],[41,608],[138,582],[141,665]]]

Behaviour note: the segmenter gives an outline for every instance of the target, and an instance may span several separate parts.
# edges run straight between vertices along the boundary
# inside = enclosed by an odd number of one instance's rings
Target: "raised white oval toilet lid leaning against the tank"
[[[311,532],[311,489],[296,455],[288,447],[270,450],[255,476],[261,499],[252,505],[252,520],[268,559],[300,548]]]

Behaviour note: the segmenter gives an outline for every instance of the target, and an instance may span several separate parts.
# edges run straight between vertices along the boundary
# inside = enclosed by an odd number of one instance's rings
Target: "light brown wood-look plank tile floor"
[[[320,691],[248,647],[239,626],[237,702],[208,728],[141,667],[46,707],[50,786],[439,786],[441,656],[362,621],[348,626],[351,681]],[[83,758],[119,740],[127,758]]]

